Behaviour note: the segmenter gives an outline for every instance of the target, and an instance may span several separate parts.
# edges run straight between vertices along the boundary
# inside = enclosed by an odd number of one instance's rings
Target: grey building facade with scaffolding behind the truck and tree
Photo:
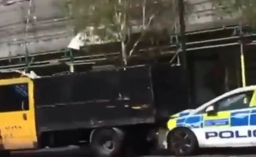
[[[59,8],[57,1],[0,0],[0,69],[29,67],[44,74],[53,68],[57,72],[69,71],[69,63],[76,63],[75,68],[83,69],[88,64],[112,66],[115,64],[114,60],[120,59],[119,42],[100,44],[101,46],[92,44],[79,52],[69,50],[68,44],[76,32],[72,18]],[[153,4],[151,10],[156,6],[163,10],[161,17],[156,18],[153,28],[158,28],[162,25],[159,23],[167,21],[166,27],[176,29],[170,29],[170,40],[161,41],[160,44],[139,42],[135,56],[130,60],[133,62],[133,59],[136,60],[142,54],[140,58],[146,59],[134,63],[146,63],[145,60],[152,60],[156,56],[167,62],[172,60],[179,63],[179,55],[173,58],[179,53],[180,45],[177,0],[150,1]],[[172,3],[173,7],[159,6],[166,1]],[[238,24],[241,21],[246,23],[241,13],[225,14],[219,9],[221,4],[216,4],[213,0],[184,2],[192,101],[200,104],[227,90],[242,86],[241,51],[245,58],[246,85],[256,84],[256,67],[253,61],[256,59],[253,53],[255,35],[246,31],[246,37],[241,40],[240,32],[243,30]],[[140,4],[134,5],[134,8],[134,13],[142,10]],[[131,21],[133,28],[138,30],[142,21],[142,16],[134,16]],[[241,45],[241,41],[245,43]]]

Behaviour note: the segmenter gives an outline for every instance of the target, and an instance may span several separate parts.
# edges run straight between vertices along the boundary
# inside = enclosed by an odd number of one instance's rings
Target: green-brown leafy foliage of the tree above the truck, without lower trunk
[[[125,34],[135,25],[143,25],[138,29],[142,31],[143,35],[147,34],[146,36],[160,32],[163,28],[159,28],[159,26],[171,30],[170,21],[174,21],[176,16],[173,0],[56,1],[61,10],[74,18],[73,25],[77,32],[85,30],[86,27],[93,27],[94,33],[103,40],[124,40]],[[156,23],[158,28],[155,27]]]

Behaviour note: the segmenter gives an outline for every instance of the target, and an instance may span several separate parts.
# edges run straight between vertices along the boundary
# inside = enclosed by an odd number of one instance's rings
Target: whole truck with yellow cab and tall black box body
[[[149,150],[169,116],[187,108],[183,73],[171,64],[40,78],[1,72],[0,156],[84,144],[108,157]]]

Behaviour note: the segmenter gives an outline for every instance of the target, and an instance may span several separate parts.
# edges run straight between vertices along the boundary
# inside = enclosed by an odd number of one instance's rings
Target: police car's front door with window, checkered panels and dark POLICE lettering
[[[203,114],[203,147],[256,145],[256,121],[253,121],[256,119],[255,98],[256,92],[251,90],[212,104],[212,110]]]

